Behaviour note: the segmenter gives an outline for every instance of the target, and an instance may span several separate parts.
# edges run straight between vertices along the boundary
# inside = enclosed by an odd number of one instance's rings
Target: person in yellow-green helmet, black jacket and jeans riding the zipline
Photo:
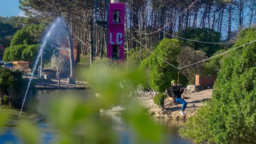
[[[187,102],[184,99],[181,99],[181,94],[184,92],[184,89],[180,88],[179,84],[176,85],[175,80],[172,80],[172,86],[169,88],[169,91],[172,94],[174,102],[177,102],[179,104],[183,104],[180,114],[185,116],[184,111],[185,111],[185,108],[187,106]]]

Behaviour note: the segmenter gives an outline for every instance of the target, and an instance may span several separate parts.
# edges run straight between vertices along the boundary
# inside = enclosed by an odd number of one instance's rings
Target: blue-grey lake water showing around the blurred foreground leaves
[[[43,113],[47,117],[47,107],[52,97],[63,97],[64,95],[76,94],[81,97],[87,97],[92,94],[91,90],[39,90],[37,95],[39,99],[38,112]],[[120,134],[120,144],[131,144],[132,137],[120,116],[110,117],[115,130]],[[156,123],[159,123],[167,128],[164,133],[164,144],[193,144],[191,139],[184,139],[178,135],[179,126],[183,121],[158,119],[153,118]],[[49,124],[43,123],[38,125],[41,133],[41,144],[54,144],[57,141],[56,137],[59,135],[55,132]],[[4,127],[0,132],[0,144],[22,144],[17,134],[16,127]]]

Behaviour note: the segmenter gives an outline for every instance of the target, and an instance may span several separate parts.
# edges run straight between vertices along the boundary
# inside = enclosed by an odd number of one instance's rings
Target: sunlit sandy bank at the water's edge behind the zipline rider
[[[148,109],[148,112],[153,117],[183,120],[183,119],[187,119],[188,117],[194,116],[197,110],[200,108],[200,106],[203,105],[203,103],[201,102],[205,102],[206,100],[209,100],[212,97],[212,91],[213,89],[208,89],[208,90],[194,92],[194,93],[183,93],[185,101],[187,102],[187,107],[184,111],[186,115],[185,117],[183,117],[180,114],[182,104],[170,106],[168,98],[166,98],[165,100],[165,109],[162,109],[161,107],[157,106],[153,102],[153,98],[151,99],[137,98],[137,100],[145,108]]]

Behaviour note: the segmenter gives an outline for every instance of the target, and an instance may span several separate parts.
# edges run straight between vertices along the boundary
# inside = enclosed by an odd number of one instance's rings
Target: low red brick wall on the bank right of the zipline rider
[[[217,79],[217,76],[210,76],[211,77],[211,86],[214,85],[214,82]],[[204,85],[210,86],[210,77],[204,75],[196,75],[196,85]]]

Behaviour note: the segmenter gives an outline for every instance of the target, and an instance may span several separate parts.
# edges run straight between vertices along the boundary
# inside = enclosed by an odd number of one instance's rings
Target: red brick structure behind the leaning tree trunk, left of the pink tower
[[[66,62],[69,63],[69,41],[68,39],[62,39],[59,41],[60,50],[59,54],[66,57]],[[78,42],[72,39],[72,45],[73,45],[73,55],[74,55],[74,62],[78,63],[80,61],[79,59],[79,46]]]

